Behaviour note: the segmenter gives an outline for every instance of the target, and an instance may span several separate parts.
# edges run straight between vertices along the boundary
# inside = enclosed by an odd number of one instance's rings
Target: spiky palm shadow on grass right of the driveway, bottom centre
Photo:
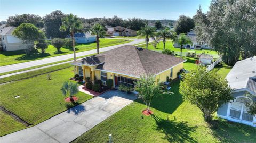
[[[151,115],[156,121],[156,130],[165,134],[163,139],[169,142],[197,142],[196,139],[190,136],[192,132],[196,131],[197,127],[191,127],[188,122],[161,119],[154,114]]]

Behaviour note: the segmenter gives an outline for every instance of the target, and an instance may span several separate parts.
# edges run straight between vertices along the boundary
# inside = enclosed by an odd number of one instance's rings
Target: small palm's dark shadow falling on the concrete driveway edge
[[[68,108],[67,113],[74,113],[75,115],[85,111],[85,106],[76,102],[66,103],[66,108]]]

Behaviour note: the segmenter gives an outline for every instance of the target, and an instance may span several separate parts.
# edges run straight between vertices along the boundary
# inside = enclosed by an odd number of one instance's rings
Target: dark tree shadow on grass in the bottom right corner
[[[209,125],[221,142],[256,142],[256,128],[218,118]]]

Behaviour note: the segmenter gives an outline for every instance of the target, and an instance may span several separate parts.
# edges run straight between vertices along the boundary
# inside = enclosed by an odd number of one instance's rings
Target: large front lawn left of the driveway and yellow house
[[[17,77],[10,77],[13,79],[9,80],[15,80],[19,78],[28,79],[13,81],[1,85],[0,105],[6,108],[6,110],[16,114],[29,124],[33,125],[49,119],[50,117],[67,110],[67,108],[72,107],[71,104],[67,104],[64,102],[65,97],[63,97],[63,95],[61,94],[60,87],[62,86],[64,81],[67,81],[70,77],[74,76],[74,73],[72,72],[73,67],[69,67],[70,64],[60,66],[53,66],[51,68],[42,69],[42,71],[38,70],[35,71],[35,74],[33,72],[30,72],[25,74],[19,74],[17,75]],[[58,68],[62,70],[58,70]],[[48,80],[47,74],[44,74],[45,72],[50,71],[53,71],[50,73],[52,80]],[[20,96],[19,98],[14,98],[18,95]],[[92,98],[92,96],[84,94],[83,92],[79,92],[76,96],[79,98],[78,104]],[[5,119],[3,119],[3,122],[6,122],[7,124],[9,122],[8,118],[6,117]],[[15,122],[13,123],[16,124]],[[6,125],[6,128],[7,127],[8,126]],[[23,127],[20,127],[18,125],[16,127],[14,125],[12,131],[22,128]],[[7,129],[0,130],[0,134],[2,136],[7,133],[10,133],[10,131],[8,131]]]

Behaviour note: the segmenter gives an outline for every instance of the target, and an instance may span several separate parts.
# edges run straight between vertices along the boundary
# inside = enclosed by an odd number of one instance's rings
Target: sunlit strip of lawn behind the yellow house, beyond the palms
[[[146,44],[140,45],[140,47],[146,48]],[[148,49],[151,50],[156,50],[156,51],[162,51],[164,47],[163,42],[159,42],[159,44],[157,44],[157,47],[154,48],[152,46],[152,43],[149,43],[148,45]],[[180,52],[180,48],[174,48],[173,47],[173,42],[172,41],[166,41],[165,43],[165,48],[170,49],[171,51],[177,51]],[[201,50],[192,50],[192,49],[182,49],[182,52],[187,52],[187,51],[196,51],[196,53],[206,53],[206,54],[213,54],[213,55],[217,55],[218,53],[216,51],[210,50],[210,49],[201,49]]]

